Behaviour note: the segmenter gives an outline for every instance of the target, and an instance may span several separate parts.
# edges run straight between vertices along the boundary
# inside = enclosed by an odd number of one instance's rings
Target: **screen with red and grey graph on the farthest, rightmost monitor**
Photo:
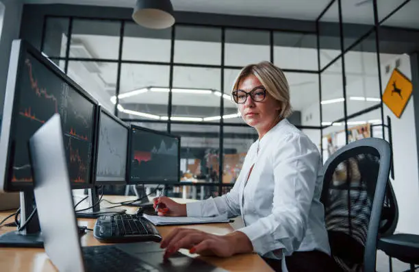
[[[179,182],[179,137],[134,125],[129,137],[129,183]]]

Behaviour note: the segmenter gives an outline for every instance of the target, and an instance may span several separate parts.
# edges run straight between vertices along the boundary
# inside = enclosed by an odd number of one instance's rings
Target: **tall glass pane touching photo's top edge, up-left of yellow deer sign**
[[[379,1],[377,1],[379,2]],[[344,49],[347,49],[374,27],[373,1],[341,0]]]

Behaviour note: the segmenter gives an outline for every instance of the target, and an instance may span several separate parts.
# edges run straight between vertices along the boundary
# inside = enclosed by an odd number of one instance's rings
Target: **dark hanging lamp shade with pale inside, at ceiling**
[[[137,0],[133,20],[143,27],[164,29],[175,23],[170,0]]]

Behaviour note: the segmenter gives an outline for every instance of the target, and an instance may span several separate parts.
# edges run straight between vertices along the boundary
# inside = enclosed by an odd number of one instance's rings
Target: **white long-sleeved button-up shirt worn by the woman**
[[[241,214],[245,227],[238,231],[268,258],[314,249],[330,255],[321,168],[316,145],[283,119],[250,147],[230,192],[186,204],[188,217]]]

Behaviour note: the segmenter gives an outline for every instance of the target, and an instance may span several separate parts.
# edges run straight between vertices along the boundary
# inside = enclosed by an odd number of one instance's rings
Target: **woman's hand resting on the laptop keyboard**
[[[160,245],[166,248],[164,258],[169,258],[179,249],[189,249],[191,254],[215,255],[229,257],[234,254],[250,253],[253,245],[243,232],[232,232],[227,235],[214,235],[201,230],[179,227],[166,238]]]

